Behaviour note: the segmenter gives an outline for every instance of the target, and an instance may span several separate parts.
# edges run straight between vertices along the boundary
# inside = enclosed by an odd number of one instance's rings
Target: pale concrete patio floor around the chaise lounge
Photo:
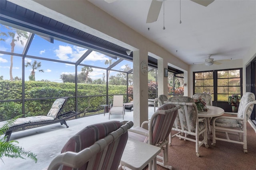
[[[157,108],[156,108],[157,109]],[[148,107],[148,117],[154,113],[154,107]],[[53,158],[55,158],[65,143],[84,127],[100,122],[106,121],[123,121],[122,115],[110,115],[108,113],[104,116],[93,115],[79,119],[67,121],[69,128],[60,123],[46,125],[25,131],[18,131],[12,133],[10,140],[16,140],[17,145],[23,147],[25,150],[30,150],[37,155],[38,162],[35,163],[31,159],[20,158],[2,158],[4,163],[0,160],[1,170],[42,170],[46,168]],[[126,110],[124,121],[133,121],[133,111]]]

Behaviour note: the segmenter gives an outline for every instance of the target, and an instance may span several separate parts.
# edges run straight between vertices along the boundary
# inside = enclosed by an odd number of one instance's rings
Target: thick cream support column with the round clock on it
[[[139,127],[148,121],[148,74],[142,74],[140,63],[148,63],[148,51],[133,51],[133,123]]]

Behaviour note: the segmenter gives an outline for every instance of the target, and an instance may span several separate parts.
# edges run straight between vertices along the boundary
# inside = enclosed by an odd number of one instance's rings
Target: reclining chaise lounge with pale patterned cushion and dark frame
[[[8,136],[7,141],[9,141],[13,131],[23,131],[26,129],[31,129],[34,127],[40,127],[44,125],[50,125],[54,123],[60,123],[61,125],[64,124],[68,128],[66,120],[79,115],[79,113],[76,113],[74,111],[68,111],[66,113],[62,113],[62,109],[65,106],[67,100],[68,98],[66,97],[56,99],[55,102],[52,104],[52,108],[50,109],[50,111],[46,116],[40,115],[40,116],[18,118],[13,123],[13,125],[9,126],[8,131],[6,131],[5,133],[5,136]],[[7,121],[0,122],[0,127],[2,127],[6,123]]]

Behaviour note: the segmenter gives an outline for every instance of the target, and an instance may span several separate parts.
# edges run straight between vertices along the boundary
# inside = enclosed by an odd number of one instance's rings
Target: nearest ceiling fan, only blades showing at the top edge
[[[108,3],[115,2],[117,0],[105,0]],[[148,10],[148,17],[146,20],[146,23],[152,23],[155,22],[159,16],[162,4],[164,0],[152,0],[150,4],[150,8]],[[196,2],[197,4],[200,4],[202,6],[208,6],[210,5],[214,0],[191,0],[193,2]]]

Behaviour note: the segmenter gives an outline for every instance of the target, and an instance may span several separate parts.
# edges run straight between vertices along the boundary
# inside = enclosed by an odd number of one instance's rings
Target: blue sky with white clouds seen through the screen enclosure
[[[0,31],[7,33],[10,30],[6,29],[4,25],[0,25]],[[28,33],[29,34],[29,33]],[[6,41],[0,41],[0,51],[7,51],[11,52],[11,41],[10,37],[1,36],[2,39]],[[24,45],[20,42],[16,42],[14,47],[14,53],[22,54],[24,47],[26,45],[27,40],[22,38]],[[62,60],[62,61],[69,61],[69,62],[76,62],[85,52],[87,49],[78,47],[76,45],[72,45],[69,43],[65,43],[62,41],[58,41],[54,39],[54,43],[50,43],[43,39],[42,37],[35,35],[33,41],[30,45],[27,55],[32,55],[36,57],[44,57],[48,59],[55,59],[55,60]],[[88,64],[92,66],[99,66],[99,67],[108,67],[108,65],[104,64],[106,60],[112,59],[102,53],[93,51],[86,57],[82,64]],[[64,63],[57,63],[52,61],[44,61],[38,60],[37,62],[41,62],[42,66],[40,69],[44,70],[44,72],[36,71],[35,77],[36,80],[49,80],[54,82],[62,82],[60,79],[60,75],[63,73],[66,74],[74,74],[75,66],[73,64],[64,64]],[[116,61],[115,59],[112,62]],[[34,59],[25,58],[25,62],[34,62]],[[124,65],[128,64],[132,68],[131,61],[122,61],[113,69],[120,70],[124,68]],[[82,66],[78,66],[78,72],[81,71]],[[98,78],[102,78],[103,73],[106,74],[106,70],[92,68],[93,72],[89,74],[92,80],[96,80]],[[29,80],[28,76],[31,72],[30,67],[25,67],[25,80]],[[4,80],[10,80],[10,55],[3,55],[0,54],[0,76],[4,76]],[[116,74],[117,72],[110,72],[110,76]],[[12,69],[12,76],[13,78],[18,76],[19,78],[22,77],[22,58],[14,56],[13,57],[13,69]]]

